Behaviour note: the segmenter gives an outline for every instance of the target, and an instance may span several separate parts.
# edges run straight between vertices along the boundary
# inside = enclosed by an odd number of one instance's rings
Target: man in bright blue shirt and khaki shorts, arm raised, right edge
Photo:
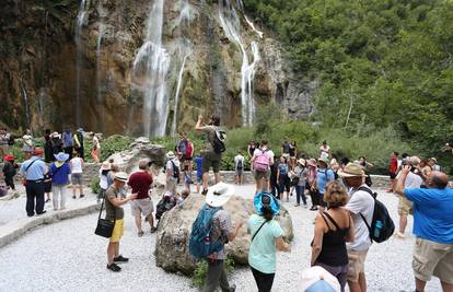
[[[411,173],[406,165],[396,184],[395,192],[414,203],[413,269],[416,291],[423,292],[427,281],[438,277],[444,292],[453,291],[453,189],[446,188],[449,177],[432,171],[427,188],[404,188]]]

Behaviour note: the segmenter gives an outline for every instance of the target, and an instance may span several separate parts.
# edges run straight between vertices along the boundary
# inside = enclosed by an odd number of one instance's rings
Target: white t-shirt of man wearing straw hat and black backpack
[[[349,243],[348,247],[358,252],[367,250],[371,246],[370,232],[360,213],[367,219],[368,224],[371,225],[374,212],[374,199],[364,190],[356,191],[351,189],[351,198],[346,205],[346,209],[351,212],[353,225],[356,226],[356,240]]]

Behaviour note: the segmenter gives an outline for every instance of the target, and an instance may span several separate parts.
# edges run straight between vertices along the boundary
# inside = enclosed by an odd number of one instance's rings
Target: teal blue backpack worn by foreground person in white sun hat
[[[196,258],[206,258],[223,248],[223,237],[211,241],[212,217],[222,208],[210,208],[204,205],[191,225],[189,253]]]

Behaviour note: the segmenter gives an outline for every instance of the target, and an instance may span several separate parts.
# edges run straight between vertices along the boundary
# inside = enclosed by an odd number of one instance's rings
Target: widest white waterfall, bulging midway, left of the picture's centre
[[[164,136],[169,114],[166,74],[170,56],[162,46],[164,0],[156,0],[148,15],[147,36],[133,60],[133,83],[143,91],[143,135]]]

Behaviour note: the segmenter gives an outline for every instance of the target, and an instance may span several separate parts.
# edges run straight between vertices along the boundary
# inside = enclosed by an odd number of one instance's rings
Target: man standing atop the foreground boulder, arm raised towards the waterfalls
[[[202,151],[202,195],[208,194],[208,179],[209,168],[212,166],[212,171],[216,177],[216,184],[220,183],[220,164],[222,161],[222,154],[216,153],[212,142],[217,138],[216,131],[220,129],[220,117],[212,115],[209,124],[202,126],[202,116],[198,116],[197,125],[195,126],[197,131],[205,132],[207,136],[206,148]]]

